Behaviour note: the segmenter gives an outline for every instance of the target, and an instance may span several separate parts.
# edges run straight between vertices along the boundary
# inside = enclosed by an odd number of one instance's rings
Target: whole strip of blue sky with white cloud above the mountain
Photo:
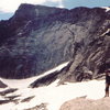
[[[110,7],[110,0],[0,0],[0,20],[11,18],[21,3],[73,9],[76,7]]]

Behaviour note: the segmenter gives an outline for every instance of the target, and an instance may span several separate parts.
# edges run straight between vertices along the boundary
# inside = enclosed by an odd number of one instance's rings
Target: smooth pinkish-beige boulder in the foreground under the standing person
[[[109,98],[98,100],[76,98],[65,102],[59,110],[109,110]]]

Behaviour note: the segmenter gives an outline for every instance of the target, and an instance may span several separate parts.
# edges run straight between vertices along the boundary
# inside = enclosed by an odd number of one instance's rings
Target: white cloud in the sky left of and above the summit
[[[0,0],[0,11],[14,12],[21,3],[43,4],[45,2],[58,3],[58,8],[64,8],[63,0]]]

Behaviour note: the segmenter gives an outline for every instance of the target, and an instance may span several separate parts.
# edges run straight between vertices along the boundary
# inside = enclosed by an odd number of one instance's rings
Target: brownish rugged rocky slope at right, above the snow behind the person
[[[92,34],[76,43],[70,64],[61,72],[61,82],[98,79],[110,68],[110,11],[106,14],[105,20],[100,18],[100,25],[96,24],[98,29],[94,28]]]

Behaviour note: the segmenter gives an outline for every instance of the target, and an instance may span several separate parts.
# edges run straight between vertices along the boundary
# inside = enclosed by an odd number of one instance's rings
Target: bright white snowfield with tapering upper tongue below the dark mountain
[[[3,79],[0,80],[7,84],[8,88],[18,88],[16,91],[8,94],[9,96],[16,96],[19,99],[18,103],[9,102],[4,105],[0,105],[0,110],[24,110],[28,108],[32,108],[38,106],[41,103],[46,103],[47,110],[59,110],[61,106],[70,99],[75,99],[77,97],[84,97],[88,99],[100,99],[105,96],[105,80],[91,80],[91,81],[82,81],[82,82],[65,82],[65,85],[57,86],[58,79],[51,84],[50,86],[38,87],[38,88],[28,88],[31,82],[36,80],[42,76],[46,76],[54,70],[59,70],[65,67],[68,63],[65,63],[47,73],[44,73],[41,76],[28,78],[28,79]],[[8,89],[7,88],[7,89]],[[4,89],[0,89],[2,91]],[[24,98],[33,97],[30,101],[22,102]],[[0,100],[3,100],[4,97],[0,96]],[[42,109],[43,110],[43,109]]]

